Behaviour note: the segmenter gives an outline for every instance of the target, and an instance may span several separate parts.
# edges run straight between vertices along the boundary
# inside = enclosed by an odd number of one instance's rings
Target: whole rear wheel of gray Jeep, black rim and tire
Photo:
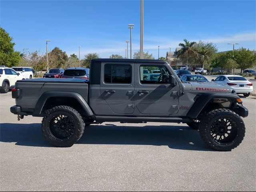
[[[69,106],[56,106],[47,110],[42,120],[42,132],[54,146],[71,147],[84,133],[84,120]]]

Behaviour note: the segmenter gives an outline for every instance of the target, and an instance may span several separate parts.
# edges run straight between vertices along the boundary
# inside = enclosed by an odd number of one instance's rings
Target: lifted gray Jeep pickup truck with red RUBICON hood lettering
[[[159,73],[144,76],[144,71]],[[102,122],[186,123],[198,129],[210,148],[230,151],[243,140],[242,117],[248,110],[230,88],[214,83],[182,82],[160,60],[94,59],[90,81],[32,79],[12,89],[18,120],[43,117],[42,132],[59,147],[76,143],[89,124]]]

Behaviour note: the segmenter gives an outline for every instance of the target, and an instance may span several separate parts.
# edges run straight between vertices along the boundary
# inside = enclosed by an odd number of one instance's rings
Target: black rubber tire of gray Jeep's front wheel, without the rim
[[[234,138],[234,140],[232,140],[228,144],[219,144],[211,137],[212,125],[214,122],[216,122],[216,120],[220,118],[229,118],[230,120],[232,120],[232,122],[234,122],[235,125],[234,130],[236,130],[236,138]],[[240,116],[232,110],[216,109],[204,114],[199,123],[199,133],[202,140],[206,143],[208,147],[218,151],[231,151],[232,149],[239,146],[244,139],[245,126],[242,118],[240,118]],[[224,140],[225,139],[226,138],[224,138]]]

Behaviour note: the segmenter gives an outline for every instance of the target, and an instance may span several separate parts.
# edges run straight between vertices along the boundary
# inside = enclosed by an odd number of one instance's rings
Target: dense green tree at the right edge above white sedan
[[[246,48],[234,50],[234,60],[238,64],[237,68],[241,69],[241,73],[247,68],[252,68],[256,64],[256,55]]]

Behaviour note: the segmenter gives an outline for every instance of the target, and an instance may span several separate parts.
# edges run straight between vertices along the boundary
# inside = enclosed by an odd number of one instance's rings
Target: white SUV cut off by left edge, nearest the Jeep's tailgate
[[[17,80],[25,79],[12,68],[0,66],[0,92],[7,93],[10,88],[15,86]]]

